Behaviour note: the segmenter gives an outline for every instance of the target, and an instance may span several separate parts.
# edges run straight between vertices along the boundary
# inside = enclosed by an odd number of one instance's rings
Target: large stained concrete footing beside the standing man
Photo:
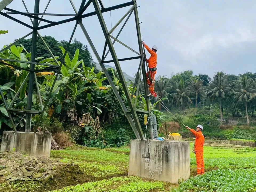
[[[190,177],[189,141],[156,141],[132,139],[129,175],[178,183]],[[146,158],[145,158],[146,148]],[[150,168],[150,170],[149,170]]]

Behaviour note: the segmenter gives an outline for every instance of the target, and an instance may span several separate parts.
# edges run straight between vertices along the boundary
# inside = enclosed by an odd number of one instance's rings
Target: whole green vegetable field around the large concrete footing
[[[256,191],[255,148],[205,146],[204,150],[206,173],[195,177],[195,155],[191,152],[191,177],[177,185],[128,176],[128,147],[73,146],[52,150],[52,159],[78,167],[64,167],[65,174],[58,175],[55,180],[6,182],[0,185],[0,191]]]

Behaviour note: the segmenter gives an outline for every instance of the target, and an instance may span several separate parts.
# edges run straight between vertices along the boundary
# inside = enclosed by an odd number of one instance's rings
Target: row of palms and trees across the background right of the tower
[[[170,78],[158,76],[155,91],[169,109],[181,111],[183,117],[187,108],[209,109],[218,105],[221,121],[223,111],[226,118],[254,117],[256,108],[256,73],[225,74],[216,72],[213,79],[207,74],[193,75],[193,71],[177,73]],[[162,106],[158,104],[158,109]]]

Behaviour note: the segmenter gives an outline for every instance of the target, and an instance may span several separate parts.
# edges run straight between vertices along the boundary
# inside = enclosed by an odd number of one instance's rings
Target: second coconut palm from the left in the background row
[[[189,87],[186,86],[186,83],[183,79],[181,79],[179,82],[176,82],[175,92],[176,93],[171,94],[173,96],[173,102],[176,105],[181,106],[182,115],[185,117],[184,110],[186,105],[189,103],[192,104],[193,102],[190,99],[191,91],[189,90]]]

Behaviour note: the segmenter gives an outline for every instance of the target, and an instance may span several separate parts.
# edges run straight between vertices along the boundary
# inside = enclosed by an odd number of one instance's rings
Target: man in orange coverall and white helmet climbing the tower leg
[[[155,95],[154,80],[155,80],[155,74],[157,73],[157,46],[154,45],[152,49],[150,49],[149,46],[147,46],[144,41],[142,42],[142,44],[150,53],[150,57],[149,59],[147,59],[147,63],[149,64],[149,74],[146,73],[146,77],[147,77],[147,84],[149,85],[149,92],[150,92],[147,96],[151,97]],[[149,80],[149,75],[152,82],[150,82]]]

